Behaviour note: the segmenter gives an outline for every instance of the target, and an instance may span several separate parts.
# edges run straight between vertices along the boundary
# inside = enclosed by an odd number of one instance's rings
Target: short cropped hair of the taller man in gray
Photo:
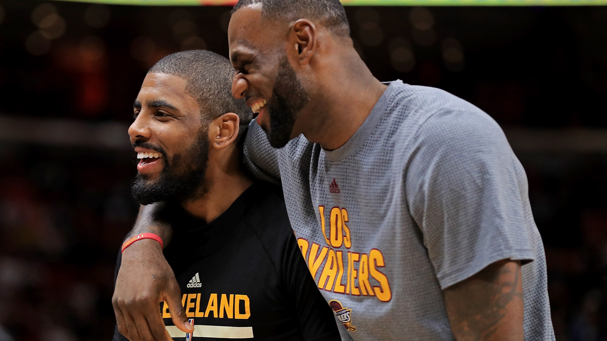
[[[239,0],[232,13],[253,4],[262,4],[262,18],[287,22],[302,18],[317,20],[334,35],[350,38],[350,24],[339,0]]]

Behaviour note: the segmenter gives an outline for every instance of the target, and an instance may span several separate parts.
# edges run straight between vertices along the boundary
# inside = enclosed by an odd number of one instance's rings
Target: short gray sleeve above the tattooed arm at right
[[[500,126],[470,107],[434,113],[419,127],[404,175],[441,289],[499,260],[534,259],[524,170]]]

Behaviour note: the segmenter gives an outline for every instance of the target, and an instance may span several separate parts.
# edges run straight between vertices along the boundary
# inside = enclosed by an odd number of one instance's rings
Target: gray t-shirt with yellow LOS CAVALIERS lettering
[[[525,339],[554,340],[524,169],[472,104],[394,81],[341,148],[274,149],[253,122],[245,161],[282,183],[344,340],[453,340],[441,290],[507,258],[524,264]]]

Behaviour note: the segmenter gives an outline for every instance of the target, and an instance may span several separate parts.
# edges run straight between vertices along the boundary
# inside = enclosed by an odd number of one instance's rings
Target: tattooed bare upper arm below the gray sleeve
[[[443,293],[456,340],[523,340],[520,262],[492,263]]]

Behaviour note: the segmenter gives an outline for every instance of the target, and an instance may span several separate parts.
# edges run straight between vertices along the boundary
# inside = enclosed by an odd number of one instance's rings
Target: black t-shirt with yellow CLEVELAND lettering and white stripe
[[[163,219],[174,230],[164,257],[194,319],[194,340],[341,340],[297,246],[279,187],[253,184],[209,224],[177,206]],[[161,313],[173,339],[185,340],[164,303]],[[114,340],[126,338],[116,331]]]

